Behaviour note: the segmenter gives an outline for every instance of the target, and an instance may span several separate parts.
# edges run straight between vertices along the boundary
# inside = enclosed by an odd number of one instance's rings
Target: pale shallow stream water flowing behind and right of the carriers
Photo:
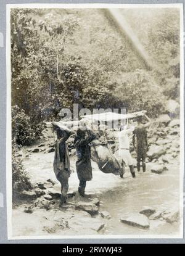
[[[31,181],[46,181],[55,179],[52,170],[54,154],[35,153],[30,158],[24,159],[24,165],[28,171]],[[120,218],[131,213],[139,213],[143,207],[152,207],[158,210],[179,210],[179,168],[178,160],[176,165],[168,165],[168,171],[161,175],[146,171],[136,173],[132,178],[127,170],[125,178],[112,174],[105,174],[97,170],[96,163],[93,167],[93,180],[86,186],[86,194],[101,199],[100,211],[106,210],[110,213],[111,219],[107,222],[105,234],[122,234],[125,236],[135,235],[165,235],[177,234],[179,223],[165,223],[165,221],[150,221],[150,229],[143,230],[133,226],[120,223]],[[71,159],[72,168],[75,169],[75,157]],[[176,166],[176,168],[175,168]],[[77,191],[78,178],[74,171],[69,180],[69,192]],[[60,191],[60,184],[57,182],[55,189]]]

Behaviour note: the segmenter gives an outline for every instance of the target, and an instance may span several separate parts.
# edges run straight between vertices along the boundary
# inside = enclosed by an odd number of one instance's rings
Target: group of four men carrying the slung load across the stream
[[[120,177],[123,178],[125,166],[130,167],[131,175],[136,177],[133,165],[133,159],[130,154],[130,138],[128,134],[133,133],[133,146],[137,153],[137,168],[140,171],[140,163],[142,161],[142,169],[146,171],[146,152],[147,152],[147,131],[146,128],[150,125],[149,118],[147,123],[142,124],[142,117],[138,118],[137,126],[128,125],[128,123],[120,128],[119,138],[119,159],[120,159]],[[67,139],[72,132],[65,126],[59,127],[52,122],[55,128],[57,139],[55,141],[55,156],[54,156],[54,172],[57,180],[61,184],[61,204],[67,201],[68,178],[70,177],[70,157],[67,146]],[[78,192],[80,196],[84,196],[86,181],[92,180],[91,167],[91,146],[89,145],[97,134],[94,133],[88,126],[79,127],[76,131],[74,146],[76,149],[76,173],[80,181]],[[135,147],[136,146],[136,147]]]

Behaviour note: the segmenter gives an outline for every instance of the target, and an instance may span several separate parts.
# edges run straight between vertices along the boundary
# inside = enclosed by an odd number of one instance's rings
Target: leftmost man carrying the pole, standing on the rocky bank
[[[57,126],[52,122],[57,133],[55,141],[55,156],[54,156],[54,173],[61,184],[61,205],[67,200],[68,178],[70,177],[70,159],[68,154],[67,139],[70,137],[71,131],[65,126]]]

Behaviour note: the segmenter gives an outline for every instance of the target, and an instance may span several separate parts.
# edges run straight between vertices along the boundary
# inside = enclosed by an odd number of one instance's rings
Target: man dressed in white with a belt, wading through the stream
[[[128,127],[128,121],[125,126],[120,128],[120,133],[118,134],[119,138],[119,158],[121,160],[121,171],[120,171],[120,177],[123,178],[123,174],[125,173],[125,165],[128,165],[130,167],[130,172],[133,178],[136,177],[135,171],[134,171],[134,165],[133,165],[133,159],[130,154],[130,141],[128,138],[128,134],[132,133],[134,131],[134,126]]]

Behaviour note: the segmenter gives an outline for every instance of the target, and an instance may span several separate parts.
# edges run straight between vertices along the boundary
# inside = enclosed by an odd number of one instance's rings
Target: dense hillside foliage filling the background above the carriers
[[[103,10],[11,11],[13,135],[19,144],[39,136],[43,120],[62,107],[146,109],[163,113],[179,97],[179,13],[121,10],[149,52],[148,71]],[[15,125],[16,124],[16,125]]]

